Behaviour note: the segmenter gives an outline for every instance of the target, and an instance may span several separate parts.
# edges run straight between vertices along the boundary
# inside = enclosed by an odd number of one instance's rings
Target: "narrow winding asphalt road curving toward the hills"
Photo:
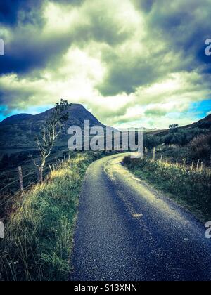
[[[135,178],[122,159],[100,159],[87,171],[70,280],[211,280],[205,227]]]

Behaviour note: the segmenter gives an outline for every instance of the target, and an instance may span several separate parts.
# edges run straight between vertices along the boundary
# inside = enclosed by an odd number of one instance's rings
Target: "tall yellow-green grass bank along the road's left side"
[[[81,155],[43,184],[16,195],[0,240],[0,280],[68,280],[72,232],[87,167],[101,155]]]

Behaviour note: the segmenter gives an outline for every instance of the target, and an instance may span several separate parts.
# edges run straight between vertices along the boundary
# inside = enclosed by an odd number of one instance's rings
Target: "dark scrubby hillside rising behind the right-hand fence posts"
[[[149,153],[156,147],[158,157],[164,155],[174,162],[188,164],[200,159],[206,166],[211,162],[211,115],[192,125],[145,134],[144,145]]]

